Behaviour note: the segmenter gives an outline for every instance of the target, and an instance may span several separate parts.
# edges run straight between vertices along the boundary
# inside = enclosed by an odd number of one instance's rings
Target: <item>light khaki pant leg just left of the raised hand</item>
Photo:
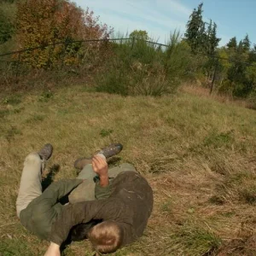
[[[92,165],[84,166],[84,169],[79,172],[77,178],[84,179],[84,182],[79,184],[76,189],[68,195],[68,201],[72,204],[80,201],[92,201],[95,200],[95,182],[93,178],[96,177],[96,173],[92,169]]]

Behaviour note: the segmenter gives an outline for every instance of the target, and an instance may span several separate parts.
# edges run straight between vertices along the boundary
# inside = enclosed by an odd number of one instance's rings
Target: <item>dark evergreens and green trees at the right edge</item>
[[[230,96],[253,96],[256,90],[256,46],[251,45],[248,35],[240,42],[236,37],[224,47],[218,47],[217,25],[202,20],[201,3],[194,9],[187,23],[184,40],[195,55],[205,55],[197,74],[211,79],[217,71],[218,92]]]

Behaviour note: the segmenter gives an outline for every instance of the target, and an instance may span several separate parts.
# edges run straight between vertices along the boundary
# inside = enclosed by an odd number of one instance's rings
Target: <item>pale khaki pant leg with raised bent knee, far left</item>
[[[20,212],[39,195],[42,195],[42,170],[44,160],[40,159],[38,153],[28,154],[24,161],[24,167],[20,179],[20,189],[16,201],[17,216]]]

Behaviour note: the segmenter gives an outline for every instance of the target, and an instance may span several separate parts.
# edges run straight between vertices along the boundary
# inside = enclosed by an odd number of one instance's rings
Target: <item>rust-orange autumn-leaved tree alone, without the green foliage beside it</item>
[[[85,11],[66,0],[26,0],[18,4],[18,41],[20,48],[44,47],[27,53],[32,67],[49,67],[65,54],[65,63],[78,60],[81,43],[73,40],[109,38],[107,25],[98,23],[89,9]],[[65,49],[59,42],[66,42]],[[52,46],[48,46],[51,44]],[[98,44],[87,44],[98,50]],[[23,55],[24,56],[24,55]]]

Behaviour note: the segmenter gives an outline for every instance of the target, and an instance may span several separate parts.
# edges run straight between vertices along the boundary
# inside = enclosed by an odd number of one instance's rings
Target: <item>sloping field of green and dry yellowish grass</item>
[[[48,242],[15,216],[26,154],[52,143],[45,173],[75,177],[73,161],[108,143],[154,189],[145,235],[115,255],[255,255],[256,113],[180,93],[160,98],[81,87],[1,96],[0,255],[44,255]],[[59,165],[59,166],[58,166]],[[45,175],[46,175],[45,174]],[[66,255],[92,255],[87,241]]]

